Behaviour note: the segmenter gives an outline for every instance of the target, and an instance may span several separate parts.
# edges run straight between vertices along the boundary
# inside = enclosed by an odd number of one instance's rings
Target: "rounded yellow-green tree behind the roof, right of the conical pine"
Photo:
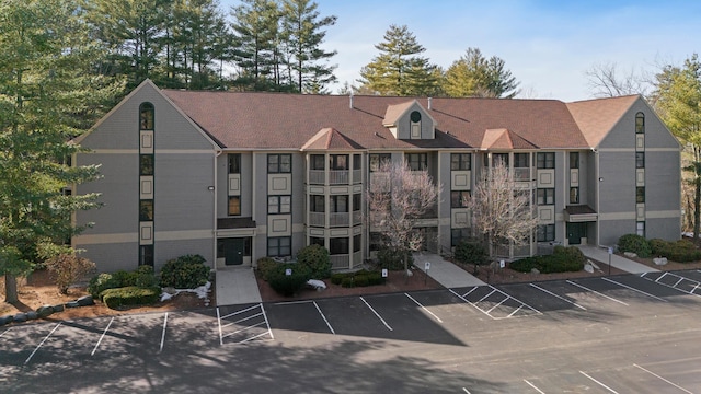
[[[518,82],[504,68],[504,60],[486,59],[479,48],[468,48],[446,71],[443,91],[450,97],[504,97],[518,93]]]

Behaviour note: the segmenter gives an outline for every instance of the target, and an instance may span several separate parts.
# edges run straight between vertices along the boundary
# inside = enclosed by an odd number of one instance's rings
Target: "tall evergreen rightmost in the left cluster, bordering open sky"
[[[289,69],[296,73],[298,92],[321,93],[324,86],[336,81],[336,66],[320,63],[337,53],[320,48],[326,32],[336,16],[319,19],[318,4],[309,0],[285,0],[283,3],[283,32],[291,55]],[[292,77],[292,76],[290,76]]]

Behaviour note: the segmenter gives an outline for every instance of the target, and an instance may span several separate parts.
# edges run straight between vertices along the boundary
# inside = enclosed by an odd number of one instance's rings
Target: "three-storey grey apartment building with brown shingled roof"
[[[216,268],[329,248],[348,269],[372,255],[365,194],[383,160],[443,185],[416,224],[426,248],[475,235],[464,198],[507,163],[540,220],[539,245],[680,236],[680,146],[640,96],[554,100],[294,95],[160,90],[146,81],[79,142],[103,177],[94,227],[72,240],[100,270],[200,254]]]

